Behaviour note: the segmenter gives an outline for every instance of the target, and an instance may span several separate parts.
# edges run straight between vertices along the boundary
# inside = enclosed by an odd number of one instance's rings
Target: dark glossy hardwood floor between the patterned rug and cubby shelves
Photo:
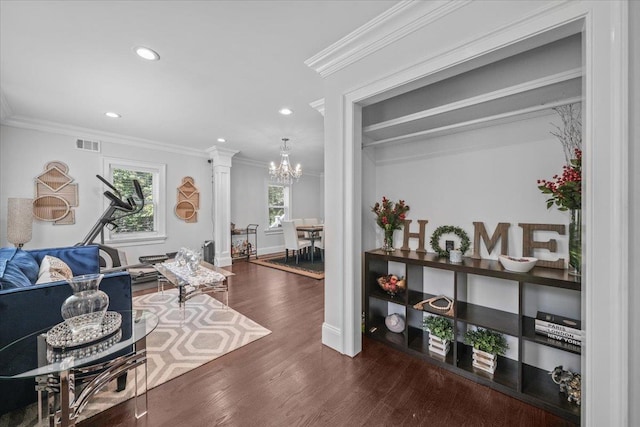
[[[151,389],[146,417],[128,401],[81,427],[571,425],[372,340],[340,355],[321,344],[323,281],[231,270],[230,306],[272,334]]]

